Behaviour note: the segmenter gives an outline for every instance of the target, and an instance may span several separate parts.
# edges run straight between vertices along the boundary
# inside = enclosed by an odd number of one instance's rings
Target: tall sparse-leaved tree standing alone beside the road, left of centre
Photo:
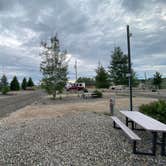
[[[67,82],[68,63],[66,51],[60,50],[60,43],[57,36],[50,40],[51,45],[42,42],[42,62],[40,70],[43,74],[42,86],[45,90],[56,98],[57,92],[62,92]]]

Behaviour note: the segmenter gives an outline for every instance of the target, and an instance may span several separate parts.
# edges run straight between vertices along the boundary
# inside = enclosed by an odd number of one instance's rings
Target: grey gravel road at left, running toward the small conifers
[[[40,100],[43,95],[44,92],[36,90],[27,94],[22,93],[15,96],[0,98],[0,118],[8,116],[8,114]]]

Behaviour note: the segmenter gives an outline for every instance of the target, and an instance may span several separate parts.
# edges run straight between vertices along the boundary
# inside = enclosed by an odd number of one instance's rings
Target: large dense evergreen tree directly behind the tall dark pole
[[[128,85],[128,56],[123,53],[120,47],[115,47],[108,66],[110,80],[115,85]],[[138,85],[136,73],[131,69],[132,85]]]

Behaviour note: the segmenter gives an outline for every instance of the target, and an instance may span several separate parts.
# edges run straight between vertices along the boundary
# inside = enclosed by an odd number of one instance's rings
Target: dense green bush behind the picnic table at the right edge
[[[139,111],[160,122],[166,123],[166,101],[164,100],[143,104],[139,107]]]

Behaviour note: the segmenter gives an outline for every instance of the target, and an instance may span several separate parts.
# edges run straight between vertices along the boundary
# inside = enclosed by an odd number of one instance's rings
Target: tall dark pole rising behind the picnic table
[[[127,48],[128,48],[128,76],[129,76],[129,89],[130,89],[130,111],[132,111],[133,110],[133,101],[132,101],[132,73],[131,73],[130,37],[131,37],[131,33],[130,33],[130,30],[129,30],[129,25],[127,25]]]

